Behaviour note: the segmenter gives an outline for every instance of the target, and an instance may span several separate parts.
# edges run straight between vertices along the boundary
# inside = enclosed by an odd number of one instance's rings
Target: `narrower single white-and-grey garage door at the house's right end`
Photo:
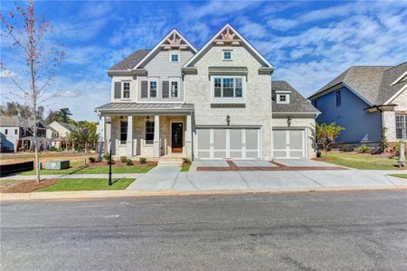
[[[306,158],[305,130],[273,130],[275,158]]]

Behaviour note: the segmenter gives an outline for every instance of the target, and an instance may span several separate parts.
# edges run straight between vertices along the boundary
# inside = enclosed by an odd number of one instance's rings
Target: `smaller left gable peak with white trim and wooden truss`
[[[141,59],[140,61],[137,62],[134,67],[132,67],[133,70],[136,70],[137,68],[141,67],[143,64],[145,64],[146,61],[151,59],[157,51],[159,51],[161,48],[164,49],[186,49],[190,48],[194,53],[197,51],[194,45],[192,45],[188,40],[185,39],[185,37],[179,33],[176,29],[173,29],[170,33],[166,34],[164,39],[162,39],[160,42],[156,43],[156,46],[147,53]]]

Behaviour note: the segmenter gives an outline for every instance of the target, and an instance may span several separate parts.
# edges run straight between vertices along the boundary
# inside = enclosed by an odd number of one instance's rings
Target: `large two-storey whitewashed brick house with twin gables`
[[[173,30],[152,50],[135,51],[108,70],[111,102],[95,108],[105,150],[111,142],[115,156],[313,157],[308,138],[317,110],[287,83],[274,89],[281,98],[272,101],[273,70],[230,24],[200,50]],[[289,131],[286,141],[281,131]]]

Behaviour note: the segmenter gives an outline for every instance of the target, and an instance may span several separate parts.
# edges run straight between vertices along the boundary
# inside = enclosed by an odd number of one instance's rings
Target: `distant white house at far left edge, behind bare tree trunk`
[[[0,146],[2,152],[17,152],[29,150],[33,142],[30,123],[24,117],[0,116]],[[41,150],[49,148],[49,141],[45,137],[46,128],[42,121],[38,122],[37,136]]]

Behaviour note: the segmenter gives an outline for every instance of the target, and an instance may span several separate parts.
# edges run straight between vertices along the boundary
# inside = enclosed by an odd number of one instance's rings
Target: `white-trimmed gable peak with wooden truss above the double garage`
[[[213,43],[230,43],[230,44],[238,44],[238,42],[242,42],[244,45],[246,45],[247,49],[250,50],[252,53],[257,56],[259,61],[264,67],[270,67],[274,68],[273,65],[271,65],[270,61],[268,61],[264,56],[261,55],[260,51],[257,51],[256,48],[254,48],[250,42],[246,41],[245,38],[239,33],[236,29],[232,27],[231,24],[226,23],[222,29],[216,33],[209,42],[206,42],[203,48],[201,48],[199,51],[195,53],[195,55],[185,63],[184,67],[192,67],[194,66],[194,63],[198,61],[202,55],[209,50],[210,46]]]

